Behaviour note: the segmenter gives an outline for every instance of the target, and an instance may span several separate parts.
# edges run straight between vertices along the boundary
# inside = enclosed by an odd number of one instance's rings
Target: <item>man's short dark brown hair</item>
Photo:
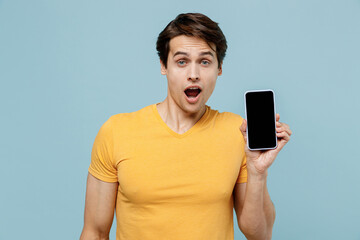
[[[215,44],[218,68],[220,68],[227,49],[226,38],[218,23],[201,13],[182,13],[172,20],[159,34],[156,42],[156,50],[160,60],[167,67],[167,60],[170,51],[170,40],[174,37],[185,35],[197,37],[210,46]]]

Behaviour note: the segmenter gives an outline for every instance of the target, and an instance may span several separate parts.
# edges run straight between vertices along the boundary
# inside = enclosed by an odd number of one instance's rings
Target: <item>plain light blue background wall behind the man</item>
[[[166,97],[155,42],[182,12],[228,40],[208,104],[244,115],[246,90],[272,88],[293,130],[273,239],[360,239],[359,0],[0,0],[0,239],[80,236],[97,131]]]

